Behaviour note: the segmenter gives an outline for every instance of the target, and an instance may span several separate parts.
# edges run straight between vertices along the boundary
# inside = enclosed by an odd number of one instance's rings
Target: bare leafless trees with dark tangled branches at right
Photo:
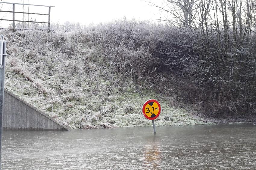
[[[193,84],[189,98],[216,113],[255,112],[255,0],[165,2],[150,3],[169,13],[156,57]]]

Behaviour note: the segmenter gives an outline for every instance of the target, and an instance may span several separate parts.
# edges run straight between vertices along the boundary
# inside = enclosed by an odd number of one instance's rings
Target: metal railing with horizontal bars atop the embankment
[[[51,16],[51,7],[54,6],[47,6],[47,5],[34,5],[34,4],[20,4],[20,3],[12,3],[12,2],[0,2],[3,4],[12,4],[12,11],[0,10],[0,12],[7,12],[12,13],[12,19],[0,19],[2,21],[12,21],[12,29],[15,31],[15,21],[17,22],[33,22],[33,23],[48,23],[48,31],[50,30],[50,16]],[[31,5],[31,6],[40,6],[40,7],[48,7],[48,14],[47,13],[31,13],[31,12],[16,12],[15,11],[15,4],[16,5]],[[48,22],[38,22],[38,21],[23,21],[23,20],[15,20],[15,13],[23,13],[23,14],[34,14],[34,15],[48,15]]]

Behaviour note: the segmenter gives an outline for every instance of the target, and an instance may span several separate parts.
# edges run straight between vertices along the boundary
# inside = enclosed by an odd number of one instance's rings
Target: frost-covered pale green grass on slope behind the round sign
[[[7,38],[5,87],[71,129],[150,126],[143,103],[161,103],[162,125],[209,124],[172,107],[154,89],[124,89],[113,63],[105,61],[93,34],[2,30]]]

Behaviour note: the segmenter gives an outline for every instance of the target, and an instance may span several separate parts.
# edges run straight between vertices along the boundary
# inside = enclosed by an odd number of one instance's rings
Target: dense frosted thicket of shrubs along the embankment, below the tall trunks
[[[147,87],[158,81],[154,87],[178,94],[211,115],[255,112],[253,37],[238,45],[214,34],[125,19],[100,25],[95,33],[107,61],[124,75],[120,83],[129,76],[151,84]],[[170,84],[178,87],[175,92]]]

